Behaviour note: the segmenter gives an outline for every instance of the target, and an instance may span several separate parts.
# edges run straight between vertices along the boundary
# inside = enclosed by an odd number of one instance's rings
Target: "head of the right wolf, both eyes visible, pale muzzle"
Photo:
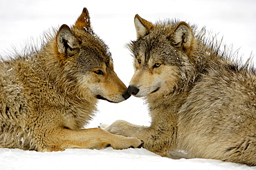
[[[128,92],[137,97],[168,95],[188,78],[193,34],[185,22],[152,24],[136,14],[137,40],[129,44],[135,73]]]

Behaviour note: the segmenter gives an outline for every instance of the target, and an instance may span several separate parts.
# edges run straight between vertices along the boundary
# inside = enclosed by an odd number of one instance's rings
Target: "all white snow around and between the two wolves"
[[[157,2],[157,3],[156,3]],[[35,42],[44,31],[62,24],[72,25],[86,7],[91,25],[103,39],[113,56],[115,71],[129,85],[134,74],[132,57],[127,43],[136,39],[134,16],[148,21],[176,18],[195,23],[199,28],[223,36],[224,43],[239,49],[243,59],[255,54],[256,1],[255,0],[158,0],[147,1],[0,1],[0,54],[17,51],[33,37]],[[50,28],[50,29],[49,29]],[[253,60],[255,63],[255,59]],[[115,120],[127,120],[136,125],[150,125],[147,105],[143,99],[131,97],[113,104],[100,100],[95,118],[86,128]],[[256,169],[244,164],[220,160],[162,158],[146,149],[102,150],[66,149],[52,153],[0,149],[0,169]]]

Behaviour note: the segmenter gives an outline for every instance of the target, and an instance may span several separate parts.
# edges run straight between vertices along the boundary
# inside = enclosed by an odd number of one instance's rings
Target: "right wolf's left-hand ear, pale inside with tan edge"
[[[148,34],[149,30],[153,27],[153,23],[146,21],[138,14],[136,14],[136,16],[134,17],[134,25],[136,28],[138,39],[142,36],[145,36],[145,34]]]

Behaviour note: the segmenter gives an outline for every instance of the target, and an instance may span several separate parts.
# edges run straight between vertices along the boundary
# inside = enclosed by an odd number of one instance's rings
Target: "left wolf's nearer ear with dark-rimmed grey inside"
[[[72,56],[79,48],[79,41],[75,38],[68,25],[65,24],[57,32],[56,41],[58,51],[61,54],[65,54],[65,56]]]

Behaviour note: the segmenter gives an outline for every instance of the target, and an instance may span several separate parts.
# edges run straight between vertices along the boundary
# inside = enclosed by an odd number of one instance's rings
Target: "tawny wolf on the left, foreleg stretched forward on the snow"
[[[39,50],[0,62],[0,147],[35,151],[126,149],[142,141],[82,129],[98,99],[119,103],[127,87],[113,71],[107,45],[91,29],[86,8]]]

